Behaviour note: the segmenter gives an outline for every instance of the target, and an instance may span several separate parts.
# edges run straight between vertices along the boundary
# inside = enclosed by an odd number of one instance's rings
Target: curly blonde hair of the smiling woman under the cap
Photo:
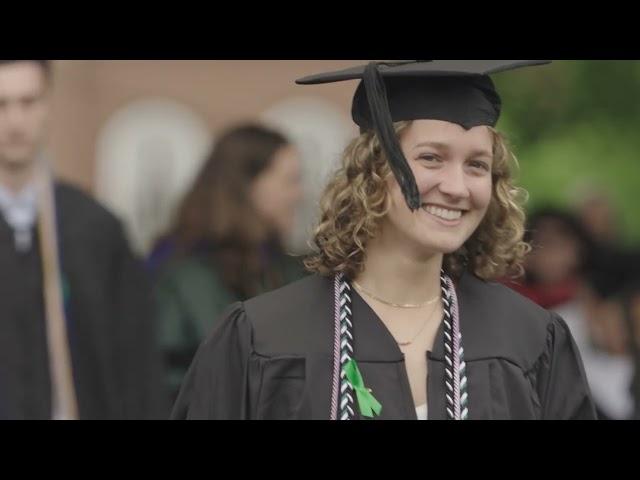
[[[400,137],[411,122],[394,124]],[[523,241],[526,192],[514,185],[517,159],[506,139],[493,135],[493,192],[487,213],[465,244],[444,257],[444,268],[455,277],[468,270],[485,280],[522,275],[529,252]],[[320,222],[312,239],[315,253],[305,259],[311,272],[344,273],[355,278],[364,269],[367,242],[388,213],[386,180],[392,175],[378,137],[365,132],[346,148],[342,166],[320,200]]]

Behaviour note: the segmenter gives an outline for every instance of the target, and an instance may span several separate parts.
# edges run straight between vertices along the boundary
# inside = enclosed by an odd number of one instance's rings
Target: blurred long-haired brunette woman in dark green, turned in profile
[[[225,307],[304,275],[301,261],[285,253],[300,182],[296,149],[263,126],[231,128],[210,152],[151,257],[159,272],[158,319],[174,398]]]

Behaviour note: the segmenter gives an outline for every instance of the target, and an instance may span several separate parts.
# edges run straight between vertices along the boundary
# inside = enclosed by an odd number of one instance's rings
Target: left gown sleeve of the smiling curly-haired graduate
[[[173,407],[173,420],[240,420],[249,416],[252,329],[242,303],[229,306],[200,345]]]

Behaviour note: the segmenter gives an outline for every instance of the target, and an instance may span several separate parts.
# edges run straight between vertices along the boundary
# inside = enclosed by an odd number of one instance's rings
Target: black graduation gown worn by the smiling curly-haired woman
[[[382,404],[416,419],[403,354],[352,291],[354,357]],[[470,419],[594,419],[577,347],[557,315],[465,274],[457,286]],[[230,306],[201,345],[174,419],[328,419],[333,281],[310,276]],[[445,419],[443,329],[428,362],[429,419]]]

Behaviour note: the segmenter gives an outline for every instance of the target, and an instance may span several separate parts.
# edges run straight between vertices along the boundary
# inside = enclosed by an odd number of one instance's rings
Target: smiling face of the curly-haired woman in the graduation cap
[[[422,207],[409,210],[392,176],[383,235],[420,254],[458,250],[476,230],[491,201],[491,131],[416,120],[402,134],[400,146],[416,178]]]

